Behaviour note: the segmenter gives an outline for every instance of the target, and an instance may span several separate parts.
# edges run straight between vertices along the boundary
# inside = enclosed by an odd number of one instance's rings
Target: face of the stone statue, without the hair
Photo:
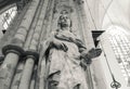
[[[70,20],[67,17],[67,15],[60,16],[60,25],[61,27],[69,27],[70,26]]]

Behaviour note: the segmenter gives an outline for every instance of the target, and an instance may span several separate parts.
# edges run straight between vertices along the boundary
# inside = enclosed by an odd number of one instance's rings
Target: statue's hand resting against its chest
[[[52,40],[52,44],[56,48],[56,49],[62,49],[65,52],[68,50],[68,48],[66,47],[66,44],[64,44],[61,40],[57,40],[56,38],[54,38]]]

